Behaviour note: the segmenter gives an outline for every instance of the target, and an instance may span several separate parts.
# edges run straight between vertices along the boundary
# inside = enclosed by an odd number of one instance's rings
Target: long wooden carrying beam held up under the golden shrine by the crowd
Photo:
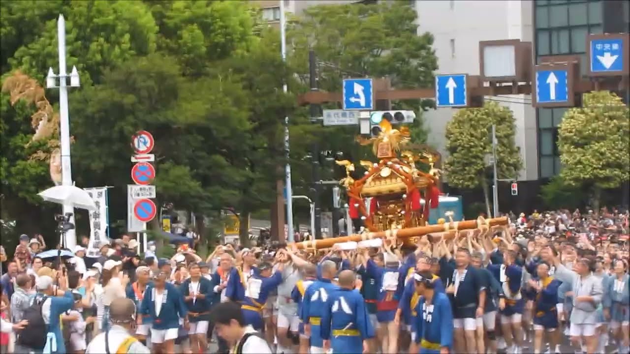
[[[478,220],[464,220],[464,221],[455,221],[455,222],[446,222],[444,224],[437,225],[427,225],[427,226],[419,226],[419,227],[410,227],[408,229],[399,229],[399,230],[387,230],[387,231],[379,231],[379,232],[364,232],[363,234],[351,235],[351,236],[341,236],[334,237],[330,239],[319,239],[319,240],[307,240],[299,243],[295,243],[297,249],[321,249],[321,248],[330,248],[333,244],[336,243],[344,243],[344,242],[360,242],[369,239],[389,239],[389,238],[408,238],[408,237],[417,237],[424,236],[426,234],[438,233],[438,232],[449,232],[449,231],[457,231],[457,230],[472,230],[477,229],[483,225],[488,227],[507,225],[508,218],[507,217],[497,217],[495,219],[478,219]],[[454,234],[446,235],[446,237],[453,237]]]

